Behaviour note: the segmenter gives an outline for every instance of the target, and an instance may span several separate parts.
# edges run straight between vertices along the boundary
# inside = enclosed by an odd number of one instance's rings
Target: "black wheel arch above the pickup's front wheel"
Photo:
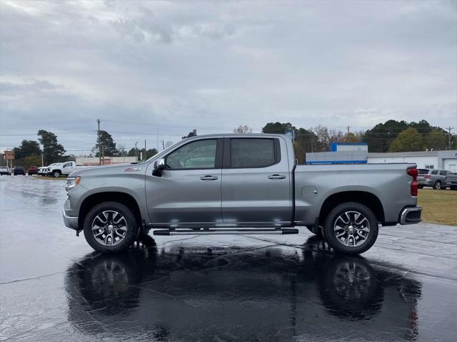
[[[135,218],[137,220],[137,224],[141,225],[142,217],[141,217],[141,210],[139,207],[138,202],[136,199],[129,195],[126,192],[120,191],[109,191],[109,192],[96,192],[94,194],[89,195],[88,197],[84,198],[81,202],[79,207],[79,215],[78,215],[78,227],[82,229],[84,225],[84,219],[86,218],[86,214],[89,210],[94,207],[96,204],[102,202],[119,202],[124,204],[126,207],[131,209],[134,213]]]

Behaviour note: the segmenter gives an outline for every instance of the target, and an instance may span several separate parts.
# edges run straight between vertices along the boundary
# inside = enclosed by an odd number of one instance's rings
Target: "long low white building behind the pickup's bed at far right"
[[[457,150],[368,153],[368,163],[415,162],[418,168],[457,172]]]

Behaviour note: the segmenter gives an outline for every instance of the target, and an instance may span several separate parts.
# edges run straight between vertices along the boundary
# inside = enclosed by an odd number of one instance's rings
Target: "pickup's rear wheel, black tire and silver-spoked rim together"
[[[347,202],[335,207],[323,229],[326,242],[335,252],[361,254],[373,246],[378,237],[378,220],[363,204]]]

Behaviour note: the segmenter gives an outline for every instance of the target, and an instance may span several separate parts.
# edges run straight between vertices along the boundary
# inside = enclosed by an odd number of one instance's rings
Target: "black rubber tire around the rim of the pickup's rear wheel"
[[[343,242],[341,242],[340,239],[336,237],[336,232],[334,231],[333,226],[336,223],[338,217],[340,217],[340,215],[344,214],[345,212],[358,212],[359,214],[362,214],[368,221],[369,232],[366,235],[366,239],[363,243],[356,246],[346,246],[343,244]],[[349,226],[348,229],[351,229],[351,226]],[[355,244],[356,239],[358,239],[358,232],[355,230],[355,228],[354,233],[348,232],[348,229],[346,229],[346,234],[351,234],[351,237],[348,237],[348,239],[352,239],[353,243]],[[333,248],[335,252],[341,254],[361,254],[370,249],[370,247],[373,246],[374,242],[376,242],[378,237],[378,219],[376,219],[376,215],[371,211],[371,209],[368,209],[368,207],[363,204],[357,202],[339,204],[337,207],[333,208],[333,210],[326,217],[323,234],[326,242],[330,245],[330,247]]]

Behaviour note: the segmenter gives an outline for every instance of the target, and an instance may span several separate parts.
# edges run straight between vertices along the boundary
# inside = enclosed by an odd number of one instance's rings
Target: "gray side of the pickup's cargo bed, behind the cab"
[[[408,167],[416,164],[354,164],[354,165],[297,165],[295,177],[295,223],[316,223],[323,201],[341,192],[359,195],[366,192],[376,196],[384,222],[398,222],[403,207],[416,205],[417,198],[405,196],[410,192],[411,176]],[[384,223],[383,222],[383,223]]]

